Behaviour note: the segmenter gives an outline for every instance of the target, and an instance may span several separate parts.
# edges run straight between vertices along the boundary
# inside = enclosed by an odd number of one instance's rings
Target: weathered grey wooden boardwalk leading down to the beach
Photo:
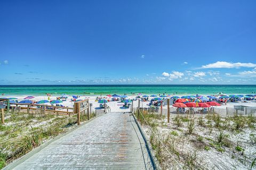
[[[107,113],[52,142],[14,169],[153,169],[130,113]]]

